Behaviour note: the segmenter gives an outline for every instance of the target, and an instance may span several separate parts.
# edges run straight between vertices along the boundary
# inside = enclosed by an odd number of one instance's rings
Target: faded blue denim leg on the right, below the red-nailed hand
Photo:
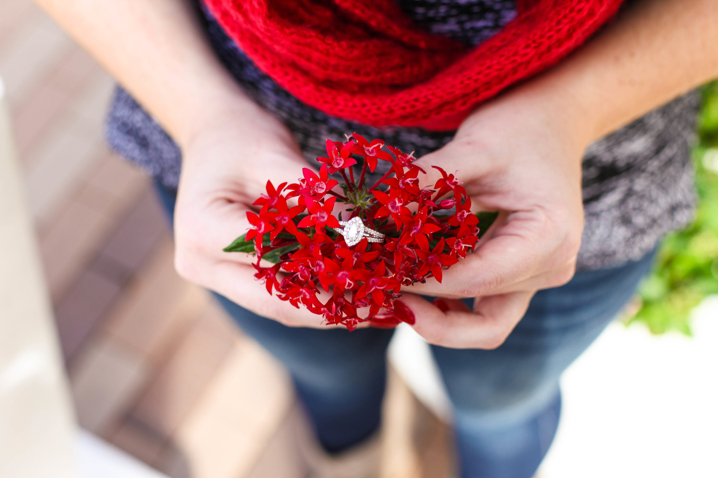
[[[630,300],[654,256],[537,292],[495,350],[432,346],[454,405],[463,478],[533,476],[558,425],[561,373]]]

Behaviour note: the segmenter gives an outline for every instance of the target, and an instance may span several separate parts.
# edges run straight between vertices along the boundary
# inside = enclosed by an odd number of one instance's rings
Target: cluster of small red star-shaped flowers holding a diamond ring
[[[377,327],[414,323],[414,314],[401,301],[401,286],[442,281],[442,269],[456,264],[475,247],[477,224],[490,224],[495,213],[472,214],[471,199],[453,174],[441,174],[434,188],[419,188],[413,153],[402,153],[383,140],[365,140],[354,133],[346,143],[327,140],[327,157],[317,176],[304,168],[299,183],[267,181],[266,194],[253,204],[259,214],[247,212],[253,228],[238,237],[226,252],[255,252],[255,277],[266,282],[269,294],[301,303],[322,315],[327,324],[349,330],[359,322]],[[358,181],[353,166],[363,164]],[[367,169],[378,161],[390,168],[373,185],[365,184]],[[339,173],[343,183],[330,178]],[[336,186],[343,193],[334,191]],[[297,206],[289,201],[296,198]],[[346,221],[332,214],[339,199],[348,206]],[[262,267],[261,259],[274,263]],[[283,270],[281,280],[277,277]],[[318,287],[330,293],[317,297]],[[359,316],[360,310],[364,317]]]

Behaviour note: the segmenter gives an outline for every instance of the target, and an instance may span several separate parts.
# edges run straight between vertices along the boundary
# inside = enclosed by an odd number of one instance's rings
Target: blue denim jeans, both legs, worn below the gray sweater
[[[158,190],[171,212],[174,191]],[[454,406],[462,478],[533,476],[558,426],[561,373],[630,300],[653,255],[579,272],[567,285],[537,292],[495,350],[432,345]],[[393,330],[289,328],[218,299],[245,333],[284,364],[327,451],[358,444],[378,429]]]

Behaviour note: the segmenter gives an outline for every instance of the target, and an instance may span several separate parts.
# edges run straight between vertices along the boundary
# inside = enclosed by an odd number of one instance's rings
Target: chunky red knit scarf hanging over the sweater
[[[473,49],[395,0],[205,0],[260,70],[307,105],[374,126],[452,130],[480,102],[579,47],[622,0],[518,0]]]

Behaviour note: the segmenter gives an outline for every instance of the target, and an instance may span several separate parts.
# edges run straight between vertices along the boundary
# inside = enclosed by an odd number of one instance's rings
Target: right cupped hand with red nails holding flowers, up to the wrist
[[[406,288],[416,331],[452,348],[495,348],[513,330],[536,290],[568,282],[579,251],[583,208],[579,122],[558,105],[508,95],[480,107],[451,143],[420,158],[457,171],[475,211],[500,211],[473,253],[444,271],[442,283]],[[431,171],[431,172],[430,172]],[[481,227],[482,224],[479,224]],[[446,297],[439,307],[421,295]],[[461,297],[475,297],[468,310]]]

